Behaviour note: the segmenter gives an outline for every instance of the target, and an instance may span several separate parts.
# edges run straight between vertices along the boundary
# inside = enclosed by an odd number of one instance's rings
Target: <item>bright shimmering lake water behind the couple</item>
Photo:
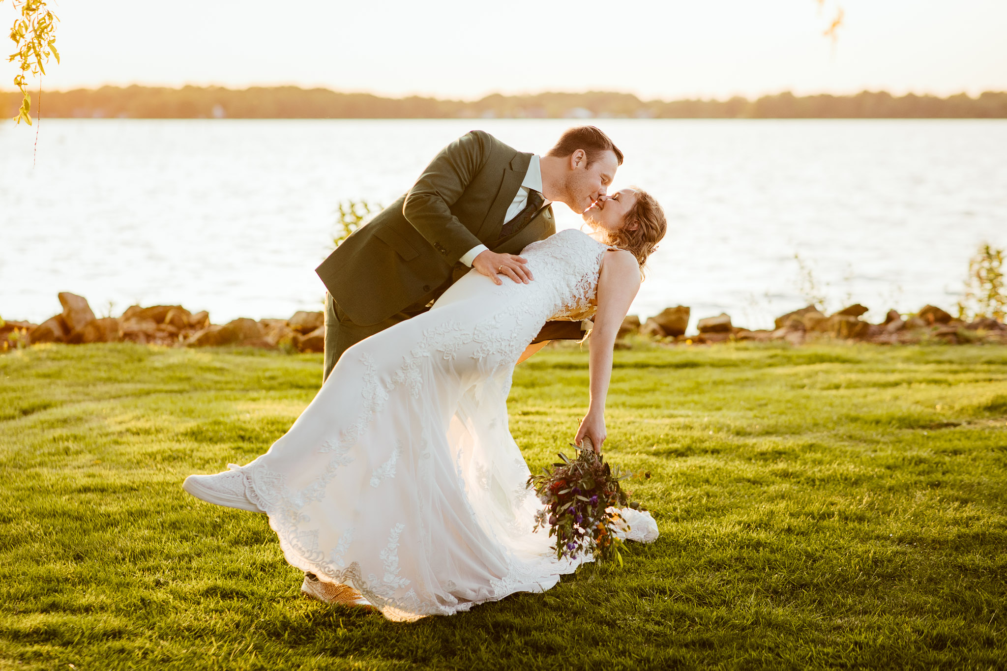
[[[1007,246],[1004,120],[595,120],[626,154],[616,187],[670,232],[633,306],[771,325],[810,269],[832,309],[951,310],[982,240]],[[43,120],[0,123],[0,315],[56,293],[96,313],[182,304],[236,317],[318,310],[336,206],[388,203],[482,128],[542,153],[566,120]],[[560,227],[580,224],[555,205]],[[805,292],[807,293],[807,292]]]

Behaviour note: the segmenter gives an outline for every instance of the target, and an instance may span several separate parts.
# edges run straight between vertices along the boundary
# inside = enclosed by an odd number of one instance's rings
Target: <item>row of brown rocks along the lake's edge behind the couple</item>
[[[63,310],[41,324],[0,321],[0,351],[38,343],[88,344],[135,342],[164,347],[209,347],[236,345],[285,349],[297,352],[324,350],[324,316],[321,312],[297,312],[289,319],[236,319],[212,324],[205,312],[192,313],[179,305],[134,305],[120,317],[95,316],[87,299],[67,292],[58,295]],[[729,315],[699,320],[698,333],[687,335],[691,310],[667,308],[642,324],[630,315],[619,329],[619,338],[646,337],[666,345],[716,344],[723,342],[783,341],[790,345],[820,340],[870,342],[879,345],[917,343],[1007,344],[1007,325],[987,317],[971,322],[956,319],[932,305],[914,314],[890,310],[884,322],[872,324],[861,317],[868,309],[852,305],[832,315],[815,306],[777,317],[772,330],[750,330],[734,326]]]

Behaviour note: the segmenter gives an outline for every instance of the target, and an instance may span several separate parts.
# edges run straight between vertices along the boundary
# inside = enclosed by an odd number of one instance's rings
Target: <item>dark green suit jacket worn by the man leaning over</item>
[[[467,270],[459,259],[477,244],[519,254],[556,232],[550,206],[499,238],[531,158],[484,131],[467,133],[441,150],[413,188],[343,240],[315,272],[362,326],[425,305]]]

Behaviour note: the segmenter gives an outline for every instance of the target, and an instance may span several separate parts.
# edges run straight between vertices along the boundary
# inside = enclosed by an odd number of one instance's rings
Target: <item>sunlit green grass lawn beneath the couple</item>
[[[320,355],[0,356],[0,669],[1004,668],[1007,348],[616,352],[608,457],[653,478],[625,567],[395,624],[300,597],[262,515],[181,490],[264,452]],[[533,468],[587,355],[522,364]]]

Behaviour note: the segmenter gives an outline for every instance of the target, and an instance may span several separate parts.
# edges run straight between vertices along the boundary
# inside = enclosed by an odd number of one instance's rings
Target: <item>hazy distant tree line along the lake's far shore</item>
[[[0,92],[0,111],[14,116],[21,94]],[[790,93],[753,101],[641,101],[631,94],[588,92],[530,96],[493,94],[474,102],[417,96],[392,99],[298,87],[166,89],[131,86],[32,94],[43,118],[127,119],[1004,119],[1007,92],[977,98],[958,94],[901,97],[886,92],[798,97]]]

